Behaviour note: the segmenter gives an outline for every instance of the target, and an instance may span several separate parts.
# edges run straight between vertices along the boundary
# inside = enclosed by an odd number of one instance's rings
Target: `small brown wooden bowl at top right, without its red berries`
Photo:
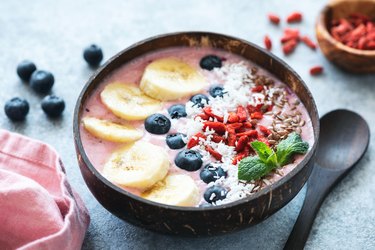
[[[320,13],[316,36],[323,54],[337,66],[354,73],[375,72],[375,50],[348,47],[333,38],[329,32],[332,20],[362,13],[375,19],[375,0],[340,0],[330,2]]]

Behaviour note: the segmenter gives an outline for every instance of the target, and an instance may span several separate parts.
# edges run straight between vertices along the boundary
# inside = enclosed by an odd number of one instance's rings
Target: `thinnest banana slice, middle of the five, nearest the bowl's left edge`
[[[92,135],[113,142],[132,142],[139,140],[143,132],[129,125],[120,125],[107,120],[94,117],[82,119],[83,126]]]

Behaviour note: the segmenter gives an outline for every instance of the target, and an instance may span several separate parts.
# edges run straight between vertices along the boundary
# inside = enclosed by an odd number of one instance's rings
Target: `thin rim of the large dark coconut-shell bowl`
[[[109,64],[112,64],[122,54],[128,53],[129,51],[137,48],[137,46],[139,46],[141,44],[144,44],[144,43],[150,43],[150,42],[152,42],[154,40],[161,39],[161,38],[173,37],[173,36],[181,36],[181,35],[185,35],[185,36],[186,35],[187,36],[189,36],[189,35],[221,36],[221,37],[226,38],[226,39],[231,39],[231,40],[239,41],[242,44],[247,44],[247,45],[255,48],[256,50],[260,51],[261,53],[266,54],[268,57],[270,57],[271,60],[275,60],[275,61],[279,62],[280,64],[283,65],[283,67],[286,68],[286,70],[288,70],[291,74],[293,74],[296,77],[296,79],[298,80],[299,84],[301,84],[303,86],[303,88],[306,91],[306,94],[309,96],[309,99],[311,100],[312,110],[316,113],[318,121],[316,122],[316,127],[314,128],[314,126],[313,126],[314,144],[310,147],[309,151],[304,156],[303,160],[300,163],[298,163],[297,166],[292,169],[292,171],[290,171],[288,174],[286,174],[281,179],[277,180],[275,183],[272,183],[271,185],[267,185],[266,187],[262,188],[257,193],[249,195],[249,196],[246,196],[246,197],[244,197],[242,199],[239,199],[239,200],[236,200],[236,201],[233,201],[233,202],[229,202],[229,203],[226,203],[226,204],[221,204],[221,205],[218,205],[218,206],[210,206],[210,207],[183,207],[183,206],[167,205],[167,204],[163,204],[163,203],[158,203],[158,202],[150,201],[150,200],[144,199],[144,198],[142,198],[142,197],[140,197],[138,195],[132,194],[131,192],[128,192],[128,191],[122,189],[121,187],[113,184],[109,180],[107,180],[92,165],[92,163],[89,160],[89,158],[87,157],[86,152],[84,150],[84,147],[82,145],[81,134],[80,134],[80,123],[81,122],[79,120],[79,118],[80,118],[80,110],[83,108],[82,99],[83,99],[86,91],[88,90],[88,88],[95,81],[95,79],[96,79],[97,76],[99,76],[100,74],[108,74],[108,72],[105,72],[106,67]],[[157,50],[157,48],[155,50]],[[151,51],[148,51],[146,53],[149,53],[149,52],[151,52]],[[111,72],[113,72],[113,70]],[[310,116],[310,114],[309,114],[309,116]],[[311,118],[311,116],[310,116],[310,118]],[[315,104],[315,100],[314,100],[314,98],[313,98],[310,90],[306,86],[305,82],[302,80],[302,78],[287,63],[285,63],[282,59],[276,57],[274,54],[270,53],[269,51],[261,48],[260,46],[254,44],[252,42],[249,42],[249,41],[246,41],[244,39],[237,38],[237,37],[234,37],[234,36],[229,36],[229,35],[215,33],[215,32],[206,32],[206,31],[178,31],[178,32],[172,32],[172,33],[163,33],[163,34],[155,35],[155,36],[146,38],[144,40],[141,40],[139,42],[136,42],[136,43],[132,44],[131,46],[129,46],[129,47],[121,50],[120,52],[118,52],[117,54],[115,54],[114,56],[112,56],[110,59],[108,59],[88,79],[88,81],[86,82],[86,84],[82,88],[82,90],[81,90],[81,92],[79,94],[79,97],[78,97],[78,99],[76,101],[76,105],[75,105],[75,109],[74,109],[74,117],[73,117],[73,136],[74,136],[74,142],[75,142],[76,148],[78,150],[77,153],[80,154],[80,157],[82,158],[83,162],[85,163],[85,167],[88,168],[90,170],[90,172],[97,179],[99,179],[102,183],[104,183],[108,188],[111,188],[111,189],[115,190],[116,192],[121,193],[122,195],[128,196],[131,199],[135,199],[138,202],[141,202],[141,203],[144,203],[144,204],[147,204],[147,205],[151,205],[151,206],[157,206],[159,208],[163,208],[163,209],[166,209],[166,210],[174,210],[174,211],[180,211],[180,212],[201,212],[201,211],[224,210],[224,209],[228,209],[228,208],[232,208],[232,207],[236,207],[236,206],[248,203],[248,202],[250,202],[252,200],[256,200],[258,197],[263,196],[263,195],[265,195],[267,193],[270,193],[272,195],[272,190],[274,190],[276,188],[279,188],[282,185],[284,185],[284,183],[286,183],[291,178],[293,178],[297,173],[299,173],[304,167],[307,166],[307,164],[308,164],[308,162],[310,160],[313,159],[313,155],[315,153],[315,150],[316,150],[317,144],[318,144],[319,131],[320,131],[319,114],[318,114],[318,110],[317,110],[317,107],[316,107],[316,104]],[[77,157],[79,157],[79,156],[77,155]],[[78,159],[78,161],[79,160],[80,159]]]

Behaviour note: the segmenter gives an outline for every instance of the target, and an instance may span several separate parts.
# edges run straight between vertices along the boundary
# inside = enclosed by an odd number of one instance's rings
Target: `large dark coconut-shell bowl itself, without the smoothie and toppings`
[[[314,129],[314,145],[290,173],[258,193],[217,207],[177,207],[145,200],[106,180],[91,164],[82,146],[80,120],[83,104],[103,79],[124,63],[157,49],[174,46],[210,46],[257,63],[285,82],[307,108]],[[95,198],[108,211],[134,225],[163,233],[212,235],[254,225],[286,205],[302,188],[313,166],[319,116],[313,97],[302,79],[286,63],[247,41],[208,32],[181,32],[139,42],[112,57],[87,82],[75,107],[74,142],[83,178]]]

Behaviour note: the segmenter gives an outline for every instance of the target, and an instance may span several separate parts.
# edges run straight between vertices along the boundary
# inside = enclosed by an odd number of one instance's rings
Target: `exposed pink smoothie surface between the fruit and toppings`
[[[215,54],[219,56],[220,58],[223,59],[223,70],[221,69],[215,69],[213,71],[208,71],[208,70],[203,70],[199,67],[199,61],[202,57],[209,55],[209,54]],[[217,84],[217,83],[223,83],[223,79],[230,75],[231,71],[229,70],[228,72],[225,71],[225,66],[228,66],[230,68],[230,65],[236,65],[242,62],[242,67],[248,68],[249,70],[256,66],[253,63],[245,60],[244,58],[231,54],[226,51],[222,50],[217,50],[217,49],[211,49],[211,48],[186,48],[186,47],[176,47],[176,48],[169,48],[169,49],[164,49],[164,50],[159,50],[155,51],[149,54],[146,54],[140,58],[136,58],[132,60],[131,62],[124,64],[117,70],[115,70],[113,73],[111,73],[101,84],[100,86],[92,93],[92,96],[90,96],[86,103],[84,104],[84,115],[83,117],[90,116],[90,117],[96,117],[96,118],[101,118],[101,119],[106,119],[110,121],[114,121],[116,123],[127,123],[127,124],[132,124],[133,126],[140,128],[144,130],[144,121],[124,121],[118,117],[116,117],[110,110],[108,110],[103,103],[100,100],[100,93],[103,90],[103,88],[112,82],[124,82],[128,84],[134,84],[134,86],[138,86],[141,78],[143,71],[145,67],[155,59],[159,58],[164,58],[164,57],[174,57],[174,58],[179,58],[183,60],[184,62],[188,63],[189,65],[195,67],[208,81],[209,84]],[[228,69],[227,68],[227,69]],[[273,88],[279,88],[284,90],[287,95],[285,96],[285,99],[287,99],[288,103],[296,103],[299,101],[299,98],[282,82],[280,82],[277,78],[275,78],[273,75],[271,75],[269,72],[266,72],[265,70],[259,69],[258,74],[265,75],[271,79],[274,80],[274,83],[272,84]],[[230,81],[228,80],[230,83]],[[228,84],[229,84],[228,83]],[[225,87],[225,85],[224,85]],[[204,91],[203,93],[207,94],[207,90]],[[207,94],[208,95],[208,94]],[[187,97],[185,99],[179,100],[179,101],[173,101],[173,102],[164,102],[163,109],[160,110],[158,113],[162,113],[169,117],[167,108],[170,107],[173,104],[186,104],[188,102],[190,97]],[[313,128],[311,124],[310,117],[306,111],[306,108],[303,106],[303,104],[298,104],[295,105],[296,107],[293,108],[293,106],[290,105],[285,105],[283,107],[277,107],[274,106],[272,109],[272,112],[277,112],[281,111],[281,115],[287,114],[287,113],[295,113],[299,112],[300,113],[300,118],[301,120],[304,120],[304,125],[301,126],[301,137],[304,141],[307,141],[310,146],[313,145],[314,142],[314,137],[313,137]],[[214,108],[214,107],[213,107]],[[194,110],[192,112],[195,112]],[[219,111],[218,111],[219,112]],[[272,122],[274,120],[274,117],[272,116],[272,112],[269,112],[269,115],[264,115],[263,119],[259,120],[258,124],[269,127],[272,126]],[[176,119],[171,119],[172,122],[172,127],[169,133],[174,133],[174,132],[181,132],[180,128],[186,127],[186,123],[188,122],[187,120],[191,119],[190,117],[188,118],[180,118],[178,120]],[[98,139],[94,136],[92,136],[89,132],[87,132],[84,127],[81,125],[80,127],[80,132],[81,132],[81,139],[82,139],[82,144],[85,149],[85,153],[88,156],[89,160],[93,164],[93,166],[101,172],[103,169],[104,164],[110,157],[111,153],[114,152],[117,148],[119,148],[121,143],[114,143],[114,142],[108,142],[104,141],[102,139]],[[186,132],[186,131],[183,131]],[[187,174],[190,175],[195,181],[196,184],[198,185],[201,194],[203,195],[203,192],[207,188],[207,184],[204,183],[203,181],[200,180],[199,177],[199,171],[195,172],[188,172],[183,169],[178,168],[174,164],[174,159],[176,154],[180,150],[172,150],[166,145],[165,141],[166,135],[154,135],[150,134],[147,131],[144,130],[144,136],[141,138],[141,140],[151,142],[155,145],[159,145],[168,152],[169,154],[169,160],[170,160],[170,173],[181,173],[181,174]],[[273,172],[266,176],[264,178],[265,184],[270,184],[278,179],[282,178],[285,174],[290,172],[302,159],[303,155],[301,156],[296,156],[295,160],[292,164],[288,164],[284,167],[282,167],[279,171]],[[210,158],[212,159],[212,158]],[[207,161],[207,159],[206,159]],[[207,162],[205,162],[207,163]],[[204,164],[205,164],[204,163]],[[236,166],[232,166],[231,170],[228,170],[228,174],[232,175],[232,178],[235,178],[235,173],[237,171]],[[238,182],[238,181],[237,181]],[[226,181],[223,182],[223,185],[232,185],[232,182]],[[256,188],[256,183],[250,183],[248,186],[245,186],[249,190],[243,191],[244,194],[250,194],[252,192],[255,192],[259,189]],[[137,190],[137,189],[129,189],[126,187],[122,187],[134,194],[139,194],[142,190]],[[230,189],[231,187],[227,187]],[[235,188],[233,188],[235,190]],[[234,191],[233,191],[234,192]],[[237,191],[236,191],[237,192]],[[230,195],[229,195],[230,196]],[[235,199],[242,198],[243,195],[238,195],[232,194],[232,198],[229,199],[227,202],[233,201]],[[204,203],[204,200],[202,199],[201,203]],[[198,204],[197,204],[198,205]]]

